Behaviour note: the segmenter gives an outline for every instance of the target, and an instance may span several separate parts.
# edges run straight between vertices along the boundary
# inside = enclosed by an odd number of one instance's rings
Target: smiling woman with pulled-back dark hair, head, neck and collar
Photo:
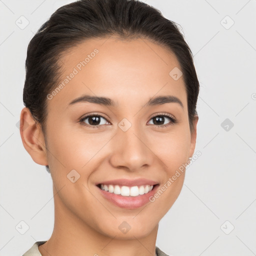
[[[39,28],[25,64],[20,135],[51,174],[54,228],[23,256],[166,255],[158,222],[180,193],[198,120],[177,25],[136,0],[78,0]]]

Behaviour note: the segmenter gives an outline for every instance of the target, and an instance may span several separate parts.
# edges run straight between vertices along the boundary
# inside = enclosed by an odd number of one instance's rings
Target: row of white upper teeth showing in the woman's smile
[[[119,186],[119,185],[106,185],[100,184],[102,190],[109,193],[120,194],[122,196],[137,196],[146,194],[153,189],[153,185],[140,185],[140,186]]]

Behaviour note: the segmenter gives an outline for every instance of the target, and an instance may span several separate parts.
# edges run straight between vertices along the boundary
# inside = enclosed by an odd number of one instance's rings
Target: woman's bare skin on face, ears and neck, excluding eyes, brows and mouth
[[[32,159],[49,165],[53,181],[54,228],[39,246],[43,256],[54,255],[154,255],[159,220],[172,206],[183,185],[181,174],[154,202],[137,209],[115,206],[95,183],[115,178],[149,178],[160,186],[192,156],[196,140],[190,133],[183,77],[169,72],[179,63],[173,53],[146,39],[123,41],[110,37],[89,39],[63,56],[63,76],[97,48],[99,52],[52,99],[47,99],[47,149],[40,128],[28,108],[20,114],[22,143]],[[118,106],[90,102],[68,103],[82,94],[105,96]],[[150,97],[173,95],[175,102],[143,107]],[[98,113],[101,128],[93,128],[85,114]],[[165,117],[166,127],[154,124],[155,114]],[[126,118],[127,131],[117,124]],[[107,125],[107,123],[110,123]],[[156,123],[156,122],[155,122]],[[99,126],[99,125],[98,125]],[[80,177],[72,183],[67,174]],[[57,193],[58,191],[58,193]],[[157,210],[155,210],[157,209]],[[118,226],[130,226],[122,233]]]

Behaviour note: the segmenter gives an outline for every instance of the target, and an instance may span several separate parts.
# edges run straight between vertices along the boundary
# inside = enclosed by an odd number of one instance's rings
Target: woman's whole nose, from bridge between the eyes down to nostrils
[[[122,120],[116,131],[111,161],[117,166],[125,166],[136,170],[150,164],[150,150],[146,146],[145,136],[139,125]]]

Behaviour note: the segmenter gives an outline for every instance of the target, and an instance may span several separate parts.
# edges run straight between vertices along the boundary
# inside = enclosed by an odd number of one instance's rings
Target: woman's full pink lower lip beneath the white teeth
[[[96,187],[100,190],[101,194],[106,199],[108,199],[110,202],[114,203],[115,205],[121,208],[126,208],[126,209],[136,209],[149,202],[149,197],[155,193],[158,186],[159,184],[154,185],[153,189],[148,193],[140,194],[137,196],[122,196],[120,194],[109,193],[105,190],[102,190],[98,186]]]

